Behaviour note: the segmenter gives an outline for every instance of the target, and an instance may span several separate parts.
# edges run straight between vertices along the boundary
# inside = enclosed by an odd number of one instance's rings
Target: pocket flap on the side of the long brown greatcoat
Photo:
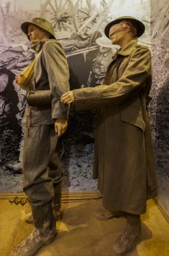
[[[143,121],[142,112],[136,112],[129,109],[124,109],[121,112],[121,120],[122,122],[135,125],[140,128],[143,132],[145,131],[145,122]]]

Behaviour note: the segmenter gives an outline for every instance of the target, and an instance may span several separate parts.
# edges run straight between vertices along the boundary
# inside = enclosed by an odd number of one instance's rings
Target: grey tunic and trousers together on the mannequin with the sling
[[[52,104],[26,106],[24,192],[34,207],[51,202],[56,186],[60,188],[62,173],[54,122],[56,118],[67,118],[68,106],[62,104],[59,98],[70,90],[69,68],[61,44],[57,40],[45,38],[36,45],[36,51],[40,50],[40,58],[34,65],[34,83],[31,83],[34,86],[30,89],[50,90]]]

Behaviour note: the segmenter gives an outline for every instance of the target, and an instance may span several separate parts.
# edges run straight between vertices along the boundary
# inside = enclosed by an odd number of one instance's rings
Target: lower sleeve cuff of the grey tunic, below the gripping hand
[[[69,106],[63,104],[60,99],[52,99],[52,119],[67,119]]]

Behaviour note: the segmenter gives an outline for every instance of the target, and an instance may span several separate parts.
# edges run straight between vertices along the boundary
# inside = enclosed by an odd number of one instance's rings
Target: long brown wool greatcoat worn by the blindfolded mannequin
[[[103,206],[143,214],[156,196],[156,174],[147,111],[151,53],[137,41],[117,52],[104,84],[73,92],[77,109],[98,109],[93,178]]]

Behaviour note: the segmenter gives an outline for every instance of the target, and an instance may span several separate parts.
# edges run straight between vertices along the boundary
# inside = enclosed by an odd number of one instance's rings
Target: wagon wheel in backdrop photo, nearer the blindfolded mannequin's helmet
[[[114,0],[77,0],[73,10],[73,22],[78,35],[84,38],[99,30],[103,21],[107,21],[108,9]]]

